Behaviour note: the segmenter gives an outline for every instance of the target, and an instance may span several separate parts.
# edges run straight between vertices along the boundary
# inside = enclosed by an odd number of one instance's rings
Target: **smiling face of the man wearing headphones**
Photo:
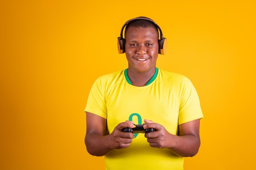
[[[137,73],[155,71],[158,56],[158,33],[153,27],[128,27],[125,35],[128,68]]]

